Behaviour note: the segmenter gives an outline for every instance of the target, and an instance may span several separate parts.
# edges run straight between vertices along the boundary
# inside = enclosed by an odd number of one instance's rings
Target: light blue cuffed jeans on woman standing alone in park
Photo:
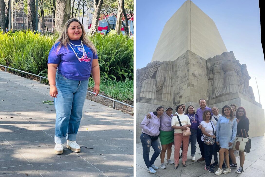
[[[82,118],[86,99],[88,80],[67,79],[56,72],[57,98],[54,98],[56,110],[55,143],[63,144],[67,139],[76,141],[76,134]]]

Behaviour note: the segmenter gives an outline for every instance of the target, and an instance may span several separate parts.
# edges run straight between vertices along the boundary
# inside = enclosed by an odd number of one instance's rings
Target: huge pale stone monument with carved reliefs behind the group
[[[165,26],[152,62],[136,70],[136,142],[147,112],[183,103],[197,109],[201,98],[219,110],[230,104],[244,107],[250,137],[263,136],[264,109],[255,101],[246,64],[227,52],[213,20],[186,1]]]

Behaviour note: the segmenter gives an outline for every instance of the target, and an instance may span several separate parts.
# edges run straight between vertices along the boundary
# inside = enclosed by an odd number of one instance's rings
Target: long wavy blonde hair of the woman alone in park
[[[85,44],[85,45],[87,45],[88,47],[90,47],[91,50],[92,50],[92,52],[93,52],[93,54],[97,54],[97,50],[96,50],[96,48],[95,48],[95,45],[92,43],[92,41],[90,41],[90,40],[87,39],[87,37],[86,37],[86,31],[85,31],[85,29],[84,29],[84,26],[83,26],[83,25],[80,23],[80,21],[77,20],[76,18],[71,18],[71,19],[69,19],[69,20],[65,23],[65,25],[64,25],[64,27],[63,27],[63,32],[62,32],[61,36],[60,36],[60,37],[55,41],[55,43],[54,43],[54,45],[55,45],[56,43],[60,42],[60,44],[59,44],[59,46],[58,46],[58,48],[57,48],[57,52],[60,50],[60,48],[61,48],[62,46],[64,46],[65,48],[67,48],[67,44],[68,44],[68,42],[69,42],[68,28],[69,28],[70,24],[71,24],[72,22],[74,22],[74,21],[78,22],[78,23],[80,24],[80,26],[81,26],[81,29],[82,29],[82,35],[81,35],[81,38],[80,38],[80,39],[83,41],[83,44]],[[67,48],[67,49],[68,49],[68,48]]]

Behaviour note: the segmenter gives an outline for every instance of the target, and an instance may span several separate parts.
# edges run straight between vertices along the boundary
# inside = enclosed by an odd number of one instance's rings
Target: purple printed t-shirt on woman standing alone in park
[[[81,39],[69,41],[74,45],[81,44]],[[72,44],[71,46],[76,52],[78,58],[81,58],[83,56],[82,45],[74,46]],[[68,49],[62,46],[57,52],[58,45],[59,43],[56,43],[52,46],[48,56],[48,64],[58,64],[58,72],[68,79],[77,81],[87,80],[90,77],[92,60],[98,59],[98,55],[93,54],[91,48],[83,44],[85,53],[83,58],[78,59],[69,44],[67,44]]]

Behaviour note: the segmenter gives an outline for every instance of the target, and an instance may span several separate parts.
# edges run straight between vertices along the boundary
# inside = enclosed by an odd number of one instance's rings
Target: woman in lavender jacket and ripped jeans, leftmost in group
[[[148,119],[147,116],[144,117],[144,120],[140,124],[142,128],[142,134],[140,136],[142,145],[143,145],[143,158],[145,165],[147,166],[147,171],[149,173],[156,173],[157,166],[154,165],[154,161],[159,156],[161,152],[161,147],[158,141],[158,135],[160,133],[160,118],[164,113],[164,107],[159,106],[156,111],[151,115],[151,119]],[[149,160],[150,148],[154,149],[151,160]]]

